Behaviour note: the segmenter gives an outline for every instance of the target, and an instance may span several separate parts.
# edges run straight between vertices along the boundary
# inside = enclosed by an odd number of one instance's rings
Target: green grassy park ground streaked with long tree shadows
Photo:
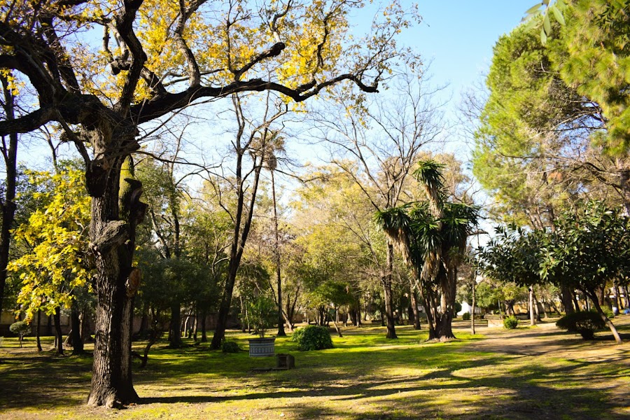
[[[409,326],[397,340],[380,327],[344,328],[325,351],[276,339],[296,367],[272,372],[253,369],[274,358],[159,342],[134,371],[141,403],[121,410],[85,407],[90,356],[3,339],[0,419],[630,419],[630,316],[615,324],[624,344],[607,332],[584,342],[553,324],[473,336],[461,323],[445,343],[424,343],[426,332]],[[246,349],[251,336],[229,337]]]

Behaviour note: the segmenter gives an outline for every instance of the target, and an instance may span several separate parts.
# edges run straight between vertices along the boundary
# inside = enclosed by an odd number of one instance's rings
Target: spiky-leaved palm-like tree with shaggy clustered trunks
[[[457,267],[466,239],[477,223],[478,208],[447,201],[442,167],[420,162],[414,172],[425,188],[426,202],[377,213],[376,221],[412,268],[426,310],[429,339],[454,338]]]

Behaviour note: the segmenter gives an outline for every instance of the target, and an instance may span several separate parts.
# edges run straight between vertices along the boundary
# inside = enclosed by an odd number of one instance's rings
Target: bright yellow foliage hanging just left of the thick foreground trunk
[[[85,287],[92,269],[83,257],[87,232],[82,227],[90,223],[90,197],[82,173],[28,175],[39,190],[33,197],[42,208],[13,230],[16,241],[25,241],[31,251],[11,261],[7,269],[19,273],[18,303],[31,316],[37,310],[52,313],[56,307],[69,307],[73,289]]]

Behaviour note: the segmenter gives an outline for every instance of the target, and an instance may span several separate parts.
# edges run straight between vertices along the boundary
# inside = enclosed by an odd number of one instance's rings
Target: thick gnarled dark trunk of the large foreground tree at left
[[[132,267],[132,258],[136,225],[146,205],[139,202],[141,183],[134,179],[131,157],[125,156],[125,150],[131,153],[138,146],[137,130],[122,123],[116,128],[101,124],[105,127],[86,133],[99,157],[88,162],[86,171],[92,196],[90,248],[97,271],[96,342],[87,404],[115,407],[139,399],[132,381],[131,335],[140,273]]]

